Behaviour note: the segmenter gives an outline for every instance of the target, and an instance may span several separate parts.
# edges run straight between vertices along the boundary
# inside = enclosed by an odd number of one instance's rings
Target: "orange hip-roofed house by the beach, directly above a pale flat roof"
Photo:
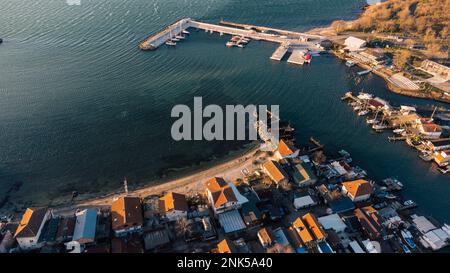
[[[221,177],[209,179],[205,186],[209,204],[216,215],[239,209],[242,204],[248,202],[233,183],[227,183]]]

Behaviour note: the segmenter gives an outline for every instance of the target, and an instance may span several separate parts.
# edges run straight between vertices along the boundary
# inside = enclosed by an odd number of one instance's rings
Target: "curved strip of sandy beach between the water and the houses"
[[[213,166],[206,167],[203,170],[194,171],[191,174],[181,175],[178,178],[160,179],[149,182],[150,185],[139,187],[135,190],[128,192],[129,195],[145,198],[151,195],[160,195],[168,191],[176,191],[178,193],[189,194],[202,191],[204,182],[211,177],[221,176],[225,180],[236,180],[242,177],[241,170],[247,168],[250,172],[255,169],[253,161],[258,156],[264,155],[259,151],[259,144],[239,152],[238,155],[224,160],[221,163],[212,163]],[[124,192],[113,192],[101,196],[93,196],[82,200],[76,200],[73,204],[70,202],[62,202],[60,204],[52,204],[49,207],[58,211],[58,213],[64,211],[73,211],[75,208],[81,208],[84,206],[104,206],[110,205],[117,197],[124,195]]]

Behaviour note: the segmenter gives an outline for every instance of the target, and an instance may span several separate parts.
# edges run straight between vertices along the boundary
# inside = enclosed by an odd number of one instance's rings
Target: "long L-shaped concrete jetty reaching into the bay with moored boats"
[[[270,59],[281,61],[287,52],[292,51],[291,63],[302,64],[304,52],[318,54],[321,51],[320,42],[325,38],[302,32],[269,28],[263,26],[245,25],[221,21],[219,24],[204,23],[191,18],[183,18],[164,28],[142,41],[139,48],[142,50],[155,50],[164,43],[171,41],[177,35],[189,28],[203,30],[207,33],[219,33],[220,35],[239,36],[245,39],[266,41],[279,44]]]

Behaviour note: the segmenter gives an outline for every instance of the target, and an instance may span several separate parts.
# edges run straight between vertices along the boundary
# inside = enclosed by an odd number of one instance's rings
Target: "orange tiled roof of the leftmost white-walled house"
[[[44,221],[47,208],[27,208],[20,220],[14,237],[34,237],[38,234],[42,221]]]

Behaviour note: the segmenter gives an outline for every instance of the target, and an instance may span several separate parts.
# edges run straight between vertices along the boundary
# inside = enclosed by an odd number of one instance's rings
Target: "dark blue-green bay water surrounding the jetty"
[[[279,104],[300,143],[315,136],[330,151],[348,150],[370,177],[397,176],[423,213],[449,221],[448,176],[371,132],[339,98],[364,88],[393,104],[430,102],[392,94],[372,75],[356,84],[332,56],[305,67],[271,62],[276,45],[264,42],[229,49],[226,36],[193,32],[177,48],[137,49],[181,17],[307,30],[354,18],[364,2],[2,0],[0,197],[29,204],[72,190],[117,190],[124,176],[133,187],[239,149],[171,140],[173,105],[202,96],[205,104]]]

